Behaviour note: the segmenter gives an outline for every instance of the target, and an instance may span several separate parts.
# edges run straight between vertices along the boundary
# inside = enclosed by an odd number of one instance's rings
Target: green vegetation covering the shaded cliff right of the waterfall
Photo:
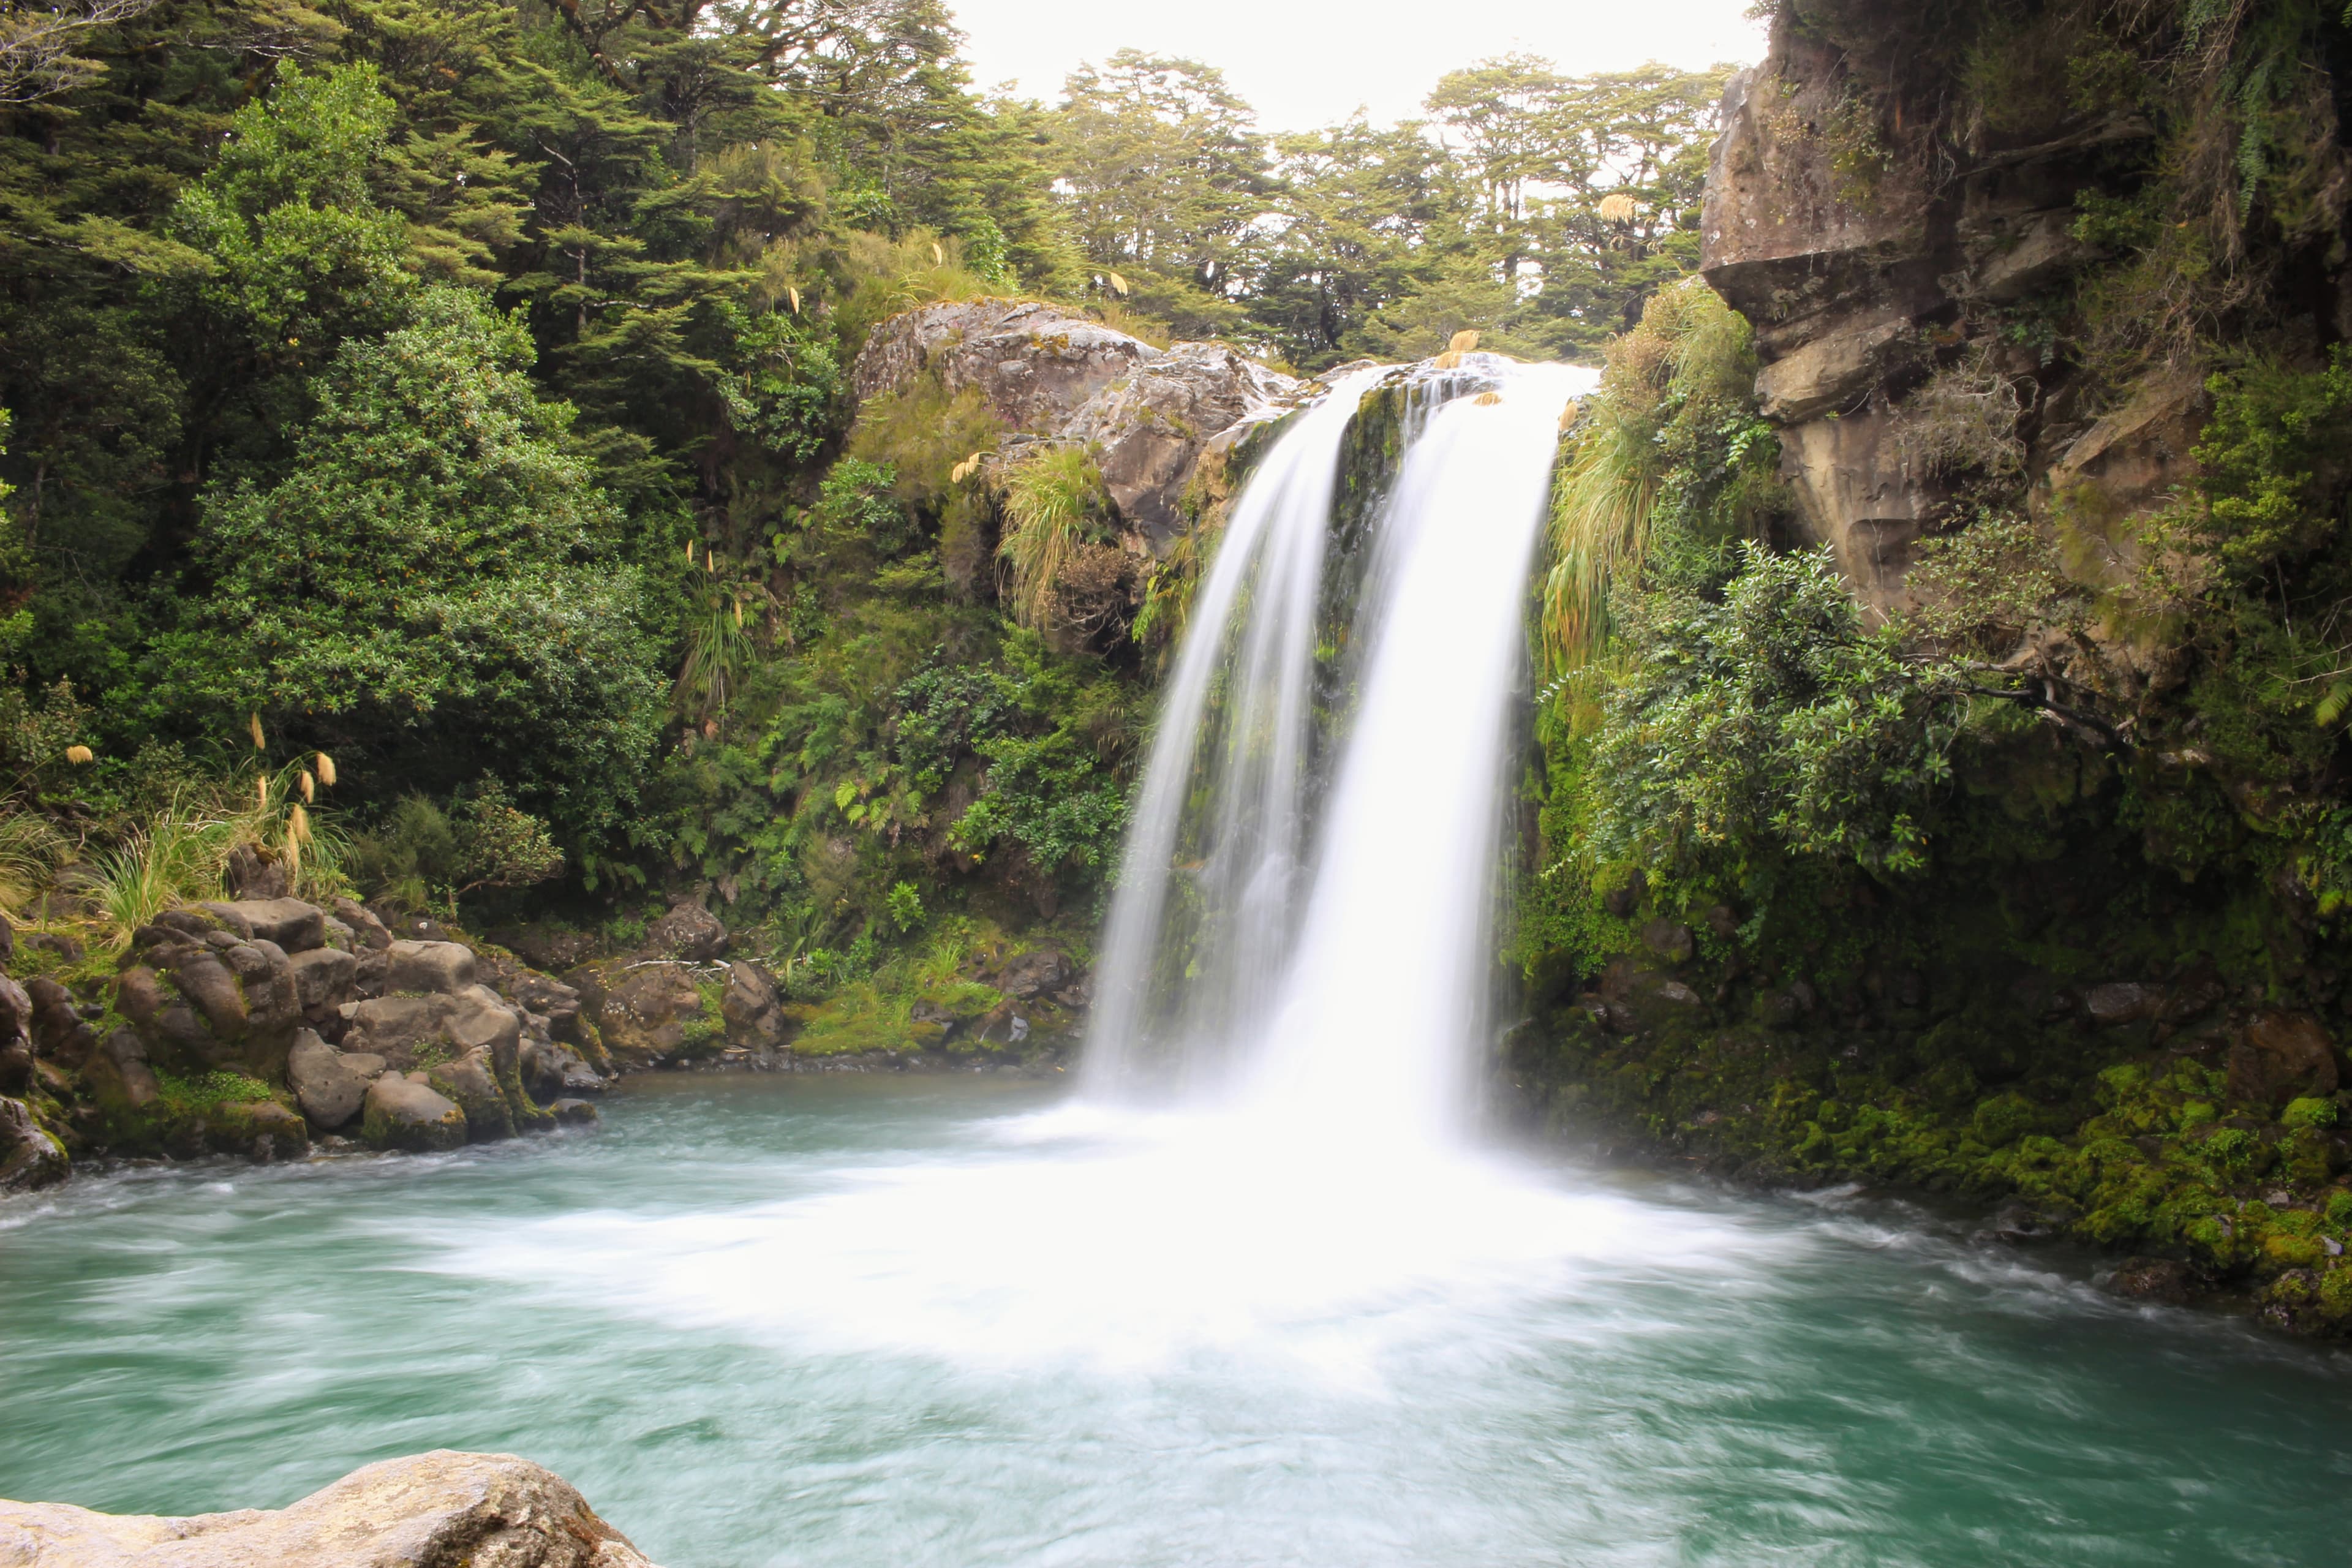
[[[1729,160],[1910,228],[1804,310],[1710,273],[1752,331],[1661,294],[1571,437],[1512,1046],[1552,1114],[2352,1331],[2345,61],[2328,5],[1780,7]],[[2072,212],[1950,216],[2046,148]]]

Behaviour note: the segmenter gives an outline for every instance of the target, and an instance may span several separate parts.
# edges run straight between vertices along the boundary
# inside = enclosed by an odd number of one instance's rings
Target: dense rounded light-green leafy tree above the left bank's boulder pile
[[[419,788],[489,764],[572,832],[619,820],[661,722],[656,649],[621,520],[529,362],[515,320],[449,287],[346,343],[294,473],[205,498],[165,710],[261,710]]]

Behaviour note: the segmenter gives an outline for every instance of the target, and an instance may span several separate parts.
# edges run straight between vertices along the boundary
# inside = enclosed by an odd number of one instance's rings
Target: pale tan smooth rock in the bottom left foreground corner
[[[355,1469],[285,1509],[167,1519],[0,1502],[9,1568],[652,1568],[562,1476],[440,1448]]]

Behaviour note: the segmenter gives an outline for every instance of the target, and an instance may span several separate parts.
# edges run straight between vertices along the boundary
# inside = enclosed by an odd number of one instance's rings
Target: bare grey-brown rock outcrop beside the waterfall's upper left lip
[[[866,341],[858,397],[934,376],[978,388],[1014,437],[1080,442],[1134,548],[1164,552],[1188,529],[1181,508],[1202,451],[1301,393],[1301,383],[1218,343],[1152,348],[1035,301],[922,306]]]

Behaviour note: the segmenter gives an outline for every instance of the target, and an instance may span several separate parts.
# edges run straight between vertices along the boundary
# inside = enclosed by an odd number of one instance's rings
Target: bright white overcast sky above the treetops
[[[1359,103],[1376,122],[1421,113],[1437,78],[1526,49],[1564,71],[1750,63],[1764,26],[1748,0],[950,0],[971,35],[971,80],[1051,103],[1080,61],[1112,49],[1223,66],[1270,132],[1312,129]]]

